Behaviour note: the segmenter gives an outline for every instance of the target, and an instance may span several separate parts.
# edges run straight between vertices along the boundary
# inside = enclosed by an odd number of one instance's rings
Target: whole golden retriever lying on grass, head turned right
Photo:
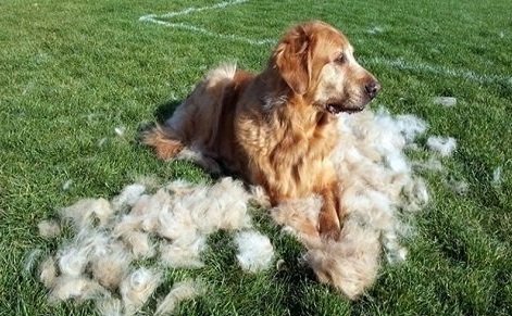
[[[353,113],[380,86],[353,56],[344,34],[323,22],[292,27],[260,74],[224,65],[195,88],[163,125],[143,135],[162,160],[191,149],[260,185],[273,205],[323,198],[315,233],[337,240],[340,185],[330,161],[338,113]]]

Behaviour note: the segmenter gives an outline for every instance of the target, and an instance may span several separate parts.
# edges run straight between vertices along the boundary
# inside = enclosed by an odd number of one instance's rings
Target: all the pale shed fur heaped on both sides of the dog
[[[304,244],[304,258],[322,282],[355,299],[376,279],[382,257],[405,260],[400,238],[411,232],[411,215],[428,201],[427,188],[413,173],[404,149],[414,150],[426,124],[413,115],[391,116],[384,110],[341,114],[341,140],[333,161],[341,179],[341,203],[347,212],[339,241],[325,241],[315,231],[322,204],[319,197],[288,201],[271,215]],[[437,138],[433,151],[454,149],[453,139]],[[445,143],[445,147],[444,147]],[[450,147],[450,148],[447,148]],[[235,233],[237,260],[243,270],[271,266],[274,249],[251,226],[250,200],[267,206],[259,187],[247,191],[239,180],[222,178],[214,185],[172,181],[155,193],[134,184],[111,201],[85,199],[59,212],[60,223],[41,222],[41,236],[71,225],[74,238],[42,261],[41,282],[49,300],[93,300],[101,315],[133,315],[162,283],[165,267],[200,268],[207,237],[217,230]],[[309,227],[308,231],[301,231]],[[384,256],[382,255],[384,251]],[[153,258],[151,266],[137,266]],[[183,300],[205,290],[205,282],[175,283],[159,300],[155,315],[173,312]]]

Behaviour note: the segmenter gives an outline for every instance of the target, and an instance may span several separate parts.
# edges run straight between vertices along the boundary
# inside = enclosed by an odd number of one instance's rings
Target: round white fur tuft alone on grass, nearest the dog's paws
[[[235,237],[237,260],[241,268],[251,273],[264,270],[274,260],[274,248],[269,237],[255,230],[240,231]]]

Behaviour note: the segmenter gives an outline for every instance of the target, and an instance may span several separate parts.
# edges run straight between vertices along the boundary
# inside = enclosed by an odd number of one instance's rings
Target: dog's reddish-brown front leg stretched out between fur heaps
[[[322,238],[338,240],[341,232],[344,217],[339,186],[336,181],[322,188],[319,192],[324,203],[319,214],[319,231]]]

